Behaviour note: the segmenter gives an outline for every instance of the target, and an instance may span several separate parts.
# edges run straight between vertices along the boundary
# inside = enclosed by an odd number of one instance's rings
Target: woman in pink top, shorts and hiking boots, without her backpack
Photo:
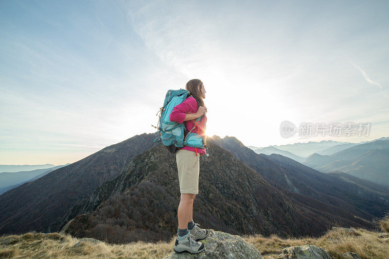
[[[192,129],[195,120],[203,115],[201,121],[192,132],[205,137],[205,127],[207,117],[207,107],[204,106],[205,88],[199,79],[192,79],[186,83],[185,89],[193,96],[185,99],[181,104],[177,104],[170,114],[170,121],[185,121],[185,127]],[[202,229],[199,224],[193,222],[193,201],[198,193],[198,176],[200,173],[200,155],[205,155],[206,149],[186,147],[179,149],[176,153],[179,189],[181,201],[178,206],[178,235],[174,245],[174,251],[191,254],[202,252],[205,247],[197,240],[205,239],[208,236],[208,229]]]

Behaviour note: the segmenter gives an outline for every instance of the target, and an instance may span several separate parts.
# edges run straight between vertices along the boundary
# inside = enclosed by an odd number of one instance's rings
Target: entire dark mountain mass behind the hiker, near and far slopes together
[[[158,133],[106,147],[0,195],[0,234],[59,231],[111,242],[177,232],[175,155]],[[321,173],[283,155],[256,154],[233,137],[208,138],[195,222],[232,234],[319,236],[333,225],[374,229],[389,189]]]

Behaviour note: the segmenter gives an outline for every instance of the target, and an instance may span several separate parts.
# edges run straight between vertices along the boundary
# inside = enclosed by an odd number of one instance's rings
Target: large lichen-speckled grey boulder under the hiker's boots
[[[188,252],[178,254],[171,252],[163,259],[264,259],[257,248],[245,242],[240,236],[230,235],[213,229],[208,230],[210,231],[208,237],[197,241],[205,245],[205,249],[201,253],[191,254]]]

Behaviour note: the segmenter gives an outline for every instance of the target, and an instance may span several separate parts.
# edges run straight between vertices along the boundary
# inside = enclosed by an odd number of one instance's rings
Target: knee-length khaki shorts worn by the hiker
[[[176,153],[179,190],[181,193],[198,193],[200,154],[180,149]]]

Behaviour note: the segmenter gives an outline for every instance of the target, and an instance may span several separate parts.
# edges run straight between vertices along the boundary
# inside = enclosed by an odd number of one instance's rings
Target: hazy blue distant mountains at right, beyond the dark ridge
[[[301,152],[301,149],[307,148],[307,150],[312,151],[323,146],[329,147],[321,149],[308,157],[285,151],[293,150],[299,154],[307,154],[309,152]],[[280,148],[283,148],[283,150]],[[252,147],[251,149],[257,154],[283,155],[323,173],[345,172],[377,184],[389,186],[389,155],[388,151],[385,150],[387,148],[389,148],[388,137],[359,143],[323,140],[283,145],[278,146],[278,148],[277,146],[268,146],[260,149]]]

